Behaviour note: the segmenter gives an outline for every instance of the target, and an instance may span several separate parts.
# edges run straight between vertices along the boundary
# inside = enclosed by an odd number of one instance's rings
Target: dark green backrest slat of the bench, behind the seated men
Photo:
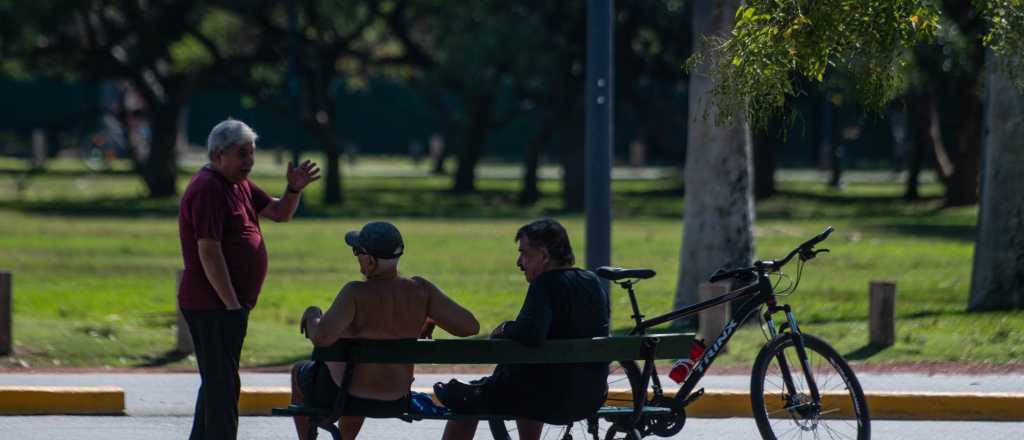
[[[341,340],[317,347],[313,359],[371,363],[572,363],[643,359],[643,341],[657,340],[655,359],[689,354],[693,334],[545,341],[526,347],[510,340]]]

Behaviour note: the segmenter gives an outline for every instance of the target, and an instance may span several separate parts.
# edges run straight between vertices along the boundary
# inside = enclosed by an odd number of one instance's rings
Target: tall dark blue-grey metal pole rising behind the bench
[[[587,2],[586,182],[587,267],[611,261],[611,157],[614,0]]]

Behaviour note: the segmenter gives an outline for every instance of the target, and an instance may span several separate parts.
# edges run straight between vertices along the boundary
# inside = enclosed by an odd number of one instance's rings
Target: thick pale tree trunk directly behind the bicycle
[[[725,35],[738,0],[693,2],[695,35]],[[694,38],[694,44],[700,44]],[[711,117],[706,67],[690,75],[689,131],[683,178],[683,245],[675,308],[697,302],[697,287],[722,266],[748,265],[754,255],[751,133],[745,122],[718,127]]]

